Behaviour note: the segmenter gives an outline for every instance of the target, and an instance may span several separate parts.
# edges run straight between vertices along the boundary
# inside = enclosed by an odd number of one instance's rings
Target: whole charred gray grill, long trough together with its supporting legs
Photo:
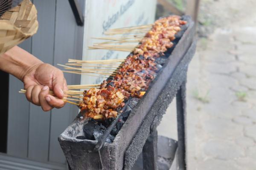
[[[76,139],[83,135],[83,125],[86,123],[79,119],[79,115],[59,136],[71,170],[130,170],[142,167],[144,170],[169,170],[170,167],[186,169],[186,73],[195,54],[196,43],[194,23],[190,17],[184,18],[188,21],[188,27],[163,68],[131,111],[113,143],[105,143],[100,150],[102,167],[99,153],[93,151],[97,141]],[[157,137],[156,130],[175,96],[178,141]]]

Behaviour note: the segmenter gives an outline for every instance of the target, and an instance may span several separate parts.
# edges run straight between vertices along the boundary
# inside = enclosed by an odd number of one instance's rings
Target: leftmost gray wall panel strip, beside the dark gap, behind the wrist
[[[31,38],[19,45],[31,52]],[[29,102],[18,91],[23,83],[10,75],[9,77],[9,106],[8,106],[8,136],[7,153],[12,156],[26,158],[29,129]]]

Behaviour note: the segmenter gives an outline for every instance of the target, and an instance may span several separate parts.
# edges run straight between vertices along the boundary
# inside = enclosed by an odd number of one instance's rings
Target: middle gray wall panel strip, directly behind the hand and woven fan
[[[38,10],[38,32],[32,39],[32,54],[45,63],[53,62],[55,0],[34,0]],[[50,111],[30,104],[28,158],[48,161]]]

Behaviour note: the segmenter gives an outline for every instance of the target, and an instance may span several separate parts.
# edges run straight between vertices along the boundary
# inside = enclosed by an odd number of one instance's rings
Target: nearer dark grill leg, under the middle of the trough
[[[151,129],[142,150],[143,170],[157,170],[157,130]]]

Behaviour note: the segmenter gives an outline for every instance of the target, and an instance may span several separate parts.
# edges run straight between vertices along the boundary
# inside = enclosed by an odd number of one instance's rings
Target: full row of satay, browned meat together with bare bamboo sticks
[[[106,41],[95,43],[89,46],[89,49],[127,51],[131,54],[125,59],[104,61],[69,59],[65,65],[59,64],[66,69],[63,72],[107,78],[102,84],[68,86],[69,90],[64,92],[66,97],[64,100],[78,105],[85,117],[115,118],[117,111],[125,106],[126,100],[131,97],[143,97],[160,69],[156,62],[157,58],[163,56],[163,53],[173,46],[175,34],[184,24],[186,21],[174,15],[161,18],[150,25],[108,30],[105,35],[112,37],[98,37],[97,39]],[[126,33],[129,35],[113,37]],[[116,43],[125,45],[116,45]]]

